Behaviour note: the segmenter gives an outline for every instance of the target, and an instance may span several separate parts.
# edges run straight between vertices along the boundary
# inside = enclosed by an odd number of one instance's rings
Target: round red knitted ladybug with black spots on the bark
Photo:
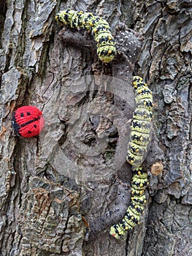
[[[16,135],[30,138],[39,135],[45,125],[42,111],[34,106],[18,108],[12,116],[12,127]]]

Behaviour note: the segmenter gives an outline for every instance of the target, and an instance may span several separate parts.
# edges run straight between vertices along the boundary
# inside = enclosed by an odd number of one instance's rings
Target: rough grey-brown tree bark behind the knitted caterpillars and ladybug
[[[126,41],[118,45],[127,59],[108,66],[96,61],[87,34],[74,32],[77,45],[65,45],[54,17],[68,7],[104,16],[114,33],[126,23],[136,32],[136,64]],[[191,0],[0,1],[1,255],[192,255],[191,8]],[[141,224],[117,241],[109,228],[130,200],[132,72],[153,91],[164,172],[150,176]],[[38,138],[13,136],[20,105],[43,110]],[[145,165],[161,158],[153,137]]]

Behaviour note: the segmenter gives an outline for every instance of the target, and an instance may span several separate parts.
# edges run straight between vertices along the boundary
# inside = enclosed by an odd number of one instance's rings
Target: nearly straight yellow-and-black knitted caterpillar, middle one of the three
[[[150,122],[153,116],[152,92],[142,78],[133,78],[136,108],[133,113],[131,135],[128,143],[127,161],[134,167],[139,167],[147,152],[150,142]]]

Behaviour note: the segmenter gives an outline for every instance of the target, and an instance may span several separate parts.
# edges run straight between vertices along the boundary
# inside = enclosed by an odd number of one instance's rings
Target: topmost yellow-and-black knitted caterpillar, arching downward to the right
[[[109,63],[116,55],[115,39],[112,37],[109,23],[106,20],[93,15],[91,12],[77,12],[64,10],[55,15],[55,20],[61,25],[74,29],[91,31],[96,41],[96,52],[99,59]]]

